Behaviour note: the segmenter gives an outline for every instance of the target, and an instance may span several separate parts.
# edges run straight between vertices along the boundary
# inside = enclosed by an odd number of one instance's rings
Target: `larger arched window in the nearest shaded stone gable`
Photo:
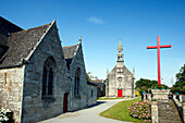
[[[42,98],[52,97],[53,94],[53,70],[54,70],[54,60],[52,57],[48,58],[44,64],[44,74],[42,74]]]

